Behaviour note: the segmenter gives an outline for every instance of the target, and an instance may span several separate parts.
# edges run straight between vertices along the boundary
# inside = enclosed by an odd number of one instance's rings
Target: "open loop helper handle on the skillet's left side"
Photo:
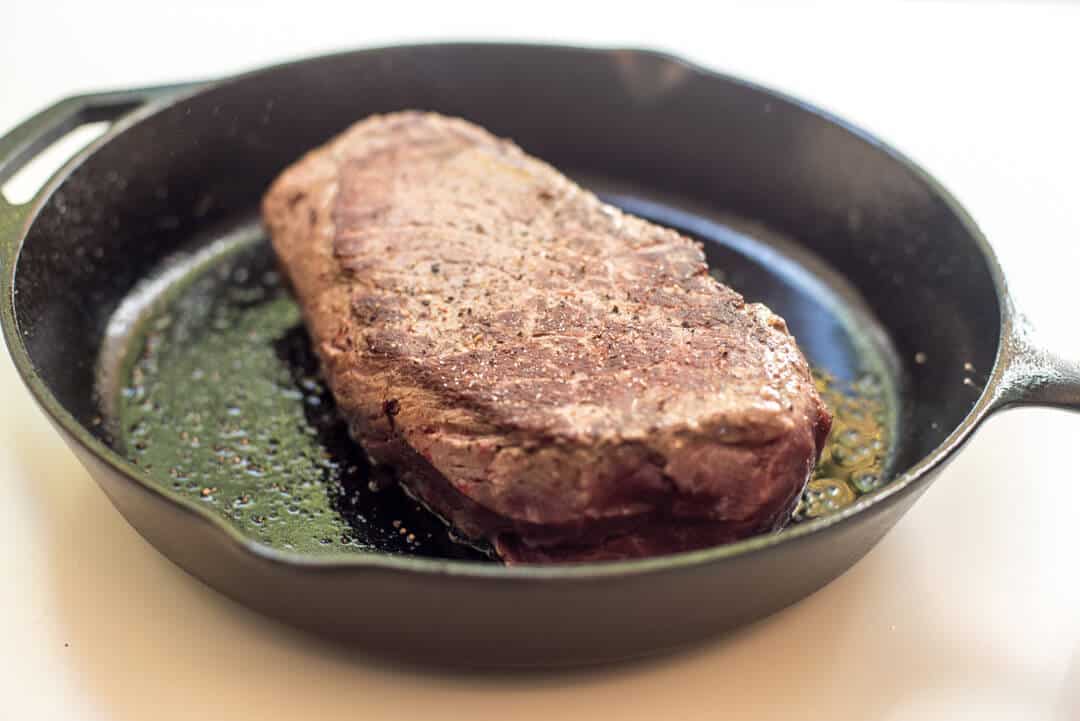
[[[89,93],[59,100],[12,128],[0,138],[0,185],[6,182],[38,153],[70,131],[86,123],[114,122],[143,106],[179,97],[203,83],[154,85],[124,91]],[[41,200],[45,185],[27,203],[15,204],[0,192],[0,247],[10,248],[21,234],[30,208]]]

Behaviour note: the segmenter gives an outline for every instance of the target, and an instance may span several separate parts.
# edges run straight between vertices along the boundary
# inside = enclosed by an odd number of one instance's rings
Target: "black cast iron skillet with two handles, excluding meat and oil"
[[[252,223],[268,183],[306,150],[368,113],[407,107],[477,121],[615,202],[699,234],[825,369],[850,376],[876,359],[895,398],[894,480],[781,534],[549,568],[291,554],[149,480],[96,425],[95,364],[113,310],[191,239]],[[1029,342],[986,240],[922,171],[815,108],[666,55],[403,46],[84,95],[0,140],[0,180],[98,120],[111,130],[32,202],[0,200],[2,325],[15,365],[150,543],[231,598],[332,638],[478,665],[607,661],[703,638],[847,570],[990,413],[1080,408],[1080,366]],[[710,220],[720,213],[760,230]],[[781,236],[799,246],[770,240]]]

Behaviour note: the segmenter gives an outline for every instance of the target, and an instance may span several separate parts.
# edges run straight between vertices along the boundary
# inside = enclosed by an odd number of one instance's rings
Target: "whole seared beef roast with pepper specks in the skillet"
[[[784,321],[697,243],[421,112],[310,152],[264,215],[353,437],[505,561],[788,518],[831,418]]]

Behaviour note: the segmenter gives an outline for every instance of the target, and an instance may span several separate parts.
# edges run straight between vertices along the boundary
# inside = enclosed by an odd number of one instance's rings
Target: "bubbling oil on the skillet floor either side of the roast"
[[[131,328],[103,375],[122,379],[106,404],[119,449],[272,547],[490,560],[451,540],[349,438],[257,230],[215,245],[118,312]],[[795,522],[850,504],[887,472],[885,389],[873,376],[818,382],[835,431]]]

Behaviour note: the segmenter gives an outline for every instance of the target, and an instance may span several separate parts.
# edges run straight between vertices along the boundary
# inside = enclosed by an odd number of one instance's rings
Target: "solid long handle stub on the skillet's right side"
[[[1080,411],[1080,362],[1048,350],[1023,314],[1007,318],[997,391],[990,410],[1050,406]]]

